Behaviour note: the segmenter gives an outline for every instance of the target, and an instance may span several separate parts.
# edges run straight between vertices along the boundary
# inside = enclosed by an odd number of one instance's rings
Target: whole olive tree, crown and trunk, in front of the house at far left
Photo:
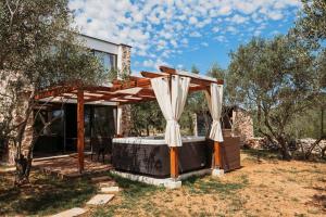
[[[73,29],[67,0],[0,0],[0,142],[15,146],[17,183],[28,181],[33,132],[22,152],[27,123],[34,124],[35,95],[64,84],[89,85],[104,71]],[[25,144],[24,144],[25,145]]]

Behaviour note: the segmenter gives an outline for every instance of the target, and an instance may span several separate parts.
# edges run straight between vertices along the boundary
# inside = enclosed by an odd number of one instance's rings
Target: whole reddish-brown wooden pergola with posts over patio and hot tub
[[[156,77],[167,77],[179,75],[190,78],[189,92],[208,90],[210,92],[210,85],[215,82],[223,85],[222,79],[215,79],[202,75],[191,74],[187,72],[177,72],[174,68],[160,66],[161,72],[141,72],[142,77],[129,76],[127,79],[115,79],[110,87],[103,86],[82,86],[82,85],[64,85],[51,87],[40,91],[35,100],[45,101],[55,99],[72,100],[77,103],[77,151],[78,151],[78,168],[79,173],[84,170],[84,105],[85,103],[104,103],[113,102],[116,105],[140,103],[145,101],[155,100],[155,94],[151,87],[151,79]],[[121,135],[116,135],[121,137]],[[218,167],[221,162],[221,150],[218,142],[214,143],[214,165]],[[171,176],[176,178],[178,176],[178,159],[177,149],[171,148]]]

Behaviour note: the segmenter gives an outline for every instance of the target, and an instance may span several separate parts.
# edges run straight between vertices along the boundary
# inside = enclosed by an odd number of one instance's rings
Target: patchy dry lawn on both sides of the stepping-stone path
[[[241,153],[242,168],[222,178],[191,178],[166,190],[113,177],[123,189],[87,216],[325,216],[326,164],[284,162],[269,152]],[[24,189],[0,178],[1,215],[48,215],[83,206],[97,191],[88,180],[60,181],[39,174]],[[4,207],[4,208],[3,208]]]

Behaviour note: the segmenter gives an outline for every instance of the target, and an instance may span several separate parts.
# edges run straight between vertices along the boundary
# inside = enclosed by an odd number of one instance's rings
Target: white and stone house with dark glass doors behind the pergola
[[[114,68],[117,72],[130,73],[130,46],[86,35],[78,35],[77,37],[100,60],[104,68]],[[120,77],[120,75],[117,76]],[[110,85],[109,81],[102,84],[102,86]],[[34,127],[26,127],[22,149],[24,150],[24,144],[30,141],[34,129],[42,129],[42,126],[53,119],[53,117],[59,117],[38,138],[34,149],[34,156],[41,157],[76,152],[76,100],[72,99],[62,104],[60,100],[53,99],[46,106],[41,105],[41,101],[47,101],[47,99],[40,100],[40,106],[35,107],[35,111],[37,111],[34,114],[36,124]],[[91,151],[91,143],[105,143],[116,133],[116,115],[118,110],[121,110],[120,112],[124,117],[122,132],[127,133],[130,123],[128,119],[130,111],[127,105],[117,106],[117,103],[114,102],[90,102],[85,104],[86,151]],[[14,151],[11,146],[0,150],[0,162],[14,163]]]

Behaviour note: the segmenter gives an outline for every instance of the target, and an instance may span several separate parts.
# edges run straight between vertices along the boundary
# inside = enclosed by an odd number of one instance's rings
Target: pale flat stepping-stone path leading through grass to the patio
[[[91,178],[91,182],[97,183],[100,193],[92,196],[87,203],[86,206],[101,206],[108,204],[114,197],[114,193],[120,191],[120,188],[116,186],[115,181],[108,176],[95,177]],[[59,214],[53,215],[52,217],[75,217],[80,216],[87,213],[87,208],[71,208]]]

